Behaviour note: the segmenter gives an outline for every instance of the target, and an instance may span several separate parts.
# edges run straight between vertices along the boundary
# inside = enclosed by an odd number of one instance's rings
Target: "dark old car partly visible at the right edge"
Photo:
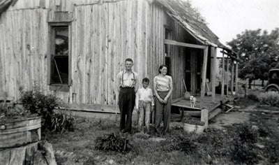
[[[265,91],[279,92],[279,69],[269,70],[269,82],[267,82]]]

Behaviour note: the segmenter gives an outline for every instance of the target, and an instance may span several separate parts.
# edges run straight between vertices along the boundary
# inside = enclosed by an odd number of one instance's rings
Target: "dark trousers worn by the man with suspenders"
[[[121,87],[119,92],[120,125],[122,131],[132,131],[132,114],[135,106],[135,89],[133,87]]]

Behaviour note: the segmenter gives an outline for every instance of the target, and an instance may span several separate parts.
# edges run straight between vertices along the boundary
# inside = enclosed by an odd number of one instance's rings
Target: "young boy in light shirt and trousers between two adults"
[[[146,131],[149,132],[149,122],[150,113],[154,110],[154,98],[153,92],[149,88],[149,79],[144,78],[142,80],[142,88],[137,91],[135,106],[137,113],[140,113],[139,117],[139,131],[144,133],[144,128],[142,127],[145,116]]]

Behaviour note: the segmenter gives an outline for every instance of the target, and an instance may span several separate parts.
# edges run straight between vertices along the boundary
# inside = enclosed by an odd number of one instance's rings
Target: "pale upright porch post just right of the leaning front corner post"
[[[216,88],[216,61],[217,61],[217,48],[211,47],[211,90],[212,90],[212,101],[215,101],[215,88]]]

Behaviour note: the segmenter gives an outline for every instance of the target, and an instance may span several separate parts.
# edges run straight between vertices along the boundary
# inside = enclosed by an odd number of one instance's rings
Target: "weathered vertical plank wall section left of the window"
[[[36,81],[47,89],[47,10],[9,10],[0,17],[0,94],[20,96]]]

